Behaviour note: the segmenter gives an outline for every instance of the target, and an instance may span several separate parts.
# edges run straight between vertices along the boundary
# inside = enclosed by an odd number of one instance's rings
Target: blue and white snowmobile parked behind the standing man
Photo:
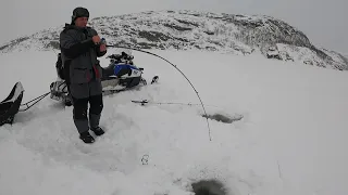
[[[102,68],[101,86],[102,94],[111,94],[129,90],[135,87],[146,86],[147,81],[142,78],[144,68],[134,64],[134,56],[129,51],[122,51],[121,54],[111,54],[108,67]],[[60,76],[60,69],[57,67],[58,79],[50,84],[50,98],[63,102],[66,106],[72,105],[72,100],[67,91],[65,80]],[[152,78],[151,83],[157,82],[158,76]]]

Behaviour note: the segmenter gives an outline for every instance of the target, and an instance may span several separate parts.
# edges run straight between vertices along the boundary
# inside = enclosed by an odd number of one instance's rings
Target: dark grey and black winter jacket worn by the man
[[[71,94],[76,99],[102,92],[102,68],[97,57],[103,56],[107,51],[100,52],[99,46],[94,43],[91,38],[96,35],[97,31],[90,27],[82,28],[67,24],[60,34],[65,80]]]

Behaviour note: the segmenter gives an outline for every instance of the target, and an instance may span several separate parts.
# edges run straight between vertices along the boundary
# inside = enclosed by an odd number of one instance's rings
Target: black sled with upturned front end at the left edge
[[[9,96],[0,103],[0,126],[13,122],[14,115],[18,113],[24,89],[21,82],[16,82]]]

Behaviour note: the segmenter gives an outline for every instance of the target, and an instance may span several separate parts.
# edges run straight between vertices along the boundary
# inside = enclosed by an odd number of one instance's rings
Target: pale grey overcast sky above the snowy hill
[[[79,5],[90,17],[179,9],[271,15],[303,31],[315,46],[348,54],[348,0],[4,0],[0,43],[69,23]]]

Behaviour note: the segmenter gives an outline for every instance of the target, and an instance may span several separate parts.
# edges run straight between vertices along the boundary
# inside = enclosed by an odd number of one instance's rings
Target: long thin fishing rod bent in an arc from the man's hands
[[[201,98],[199,96],[198,94],[198,91],[196,90],[196,88],[194,87],[194,84],[191,83],[191,81],[186,77],[186,75],[176,66],[174,65],[173,63],[171,63],[170,61],[167,61],[166,58],[156,54],[156,53],[152,53],[152,52],[149,52],[149,51],[145,51],[145,50],[141,50],[141,49],[138,49],[138,48],[130,48],[130,47],[121,47],[121,46],[117,46],[117,44],[105,44],[108,48],[120,48],[120,49],[127,49],[127,50],[135,50],[135,51],[138,51],[138,52],[142,52],[142,53],[147,53],[147,54],[150,54],[150,55],[153,55],[153,56],[157,56],[157,57],[160,57],[162,58],[163,61],[167,62],[169,64],[171,64],[176,70],[178,70],[184,77],[185,79],[189,82],[189,84],[192,87],[192,89],[195,90],[199,101],[200,101],[200,104],[203,108],[203,112],[206,114],[206,120],[207,120],[207,126],[208,126],[208,130],[209,130],[209,140],[211,141],[211,130],[210,130],[210,125],[209,125],[209,121],[208,121],[208,115],[207,115],[207,112],[206,112],[206,107],[204,107],[204,104],[201,100]]]

